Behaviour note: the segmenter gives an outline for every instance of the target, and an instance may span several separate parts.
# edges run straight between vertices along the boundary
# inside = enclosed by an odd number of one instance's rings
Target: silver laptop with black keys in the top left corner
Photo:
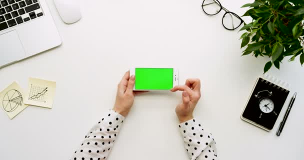
[[[0,0],[0,67],[60,44],[45,0]]]

